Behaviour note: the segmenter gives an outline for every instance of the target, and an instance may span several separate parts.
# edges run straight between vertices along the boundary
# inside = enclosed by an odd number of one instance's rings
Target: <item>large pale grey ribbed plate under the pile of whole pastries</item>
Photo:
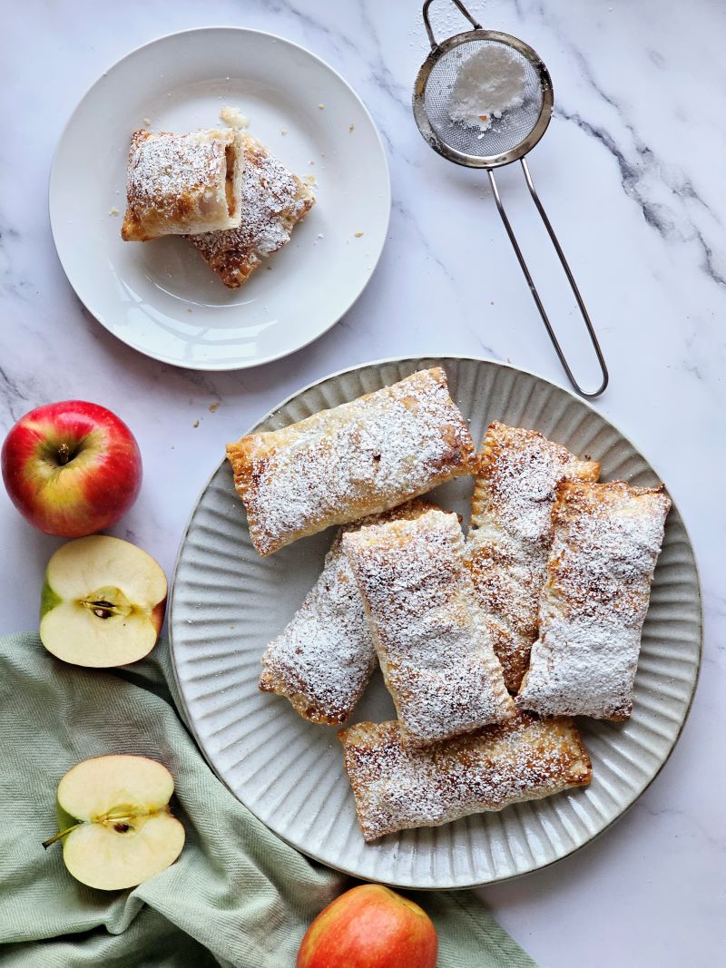
[[[323,379],[291,397],[255,430],[283,427],[433,362],[375,363]],[[491,361],[436,362],[446,369],[474,439],[498,418],[590,454],[602,462],[603,479],[657,482],[633,445],[566,390]],[[444,485],[439,501],[467,516],[471,487],[470,479]],[[287,700],[257,690],[259,657],[315,583],[330,540],[326,532],[259,558],[225,462],[192,515],[171,595],[174,666],[197,741],[229,789],[289,843],[365,880],[409,888],[485,884],[582,847],[616,820],[663,766],[681,732],[701,655],[698,574],[675,507],[652,586],[633,715],[622,724],[580,721],[592,759],[590,787],[365,844],[336,729],[306,722]],[[378,675],[352,721],[393,717]]]

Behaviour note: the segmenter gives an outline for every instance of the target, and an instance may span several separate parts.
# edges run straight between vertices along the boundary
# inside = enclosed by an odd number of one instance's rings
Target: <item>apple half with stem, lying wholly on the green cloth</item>
[[[63,861],[81,884],[101,891],[134,888],[166,870],[184,846],[184,828],[169,811],[174,780],[145,756],[83,760],[58,784]]]

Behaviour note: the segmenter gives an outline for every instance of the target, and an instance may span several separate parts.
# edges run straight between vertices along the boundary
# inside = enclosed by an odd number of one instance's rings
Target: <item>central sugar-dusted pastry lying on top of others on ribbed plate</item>
[[[473,602],[456,514],[343,535],[378,662],[401,721],[401,742],[423,746],[514,715],[499,660]]]

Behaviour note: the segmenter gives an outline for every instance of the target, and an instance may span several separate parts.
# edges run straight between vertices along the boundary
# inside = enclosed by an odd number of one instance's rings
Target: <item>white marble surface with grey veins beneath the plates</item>
[[[472,8],[528,41],[550,68],[556,116],[530,167],[610,363],[611,386],[596,406],[681,506],[707,630],[693,711],[650,790],[575,856],[481,893],[541,965],[711,966],[722,962],[724,937],[726,11],[718,0],[667,12],[646,0]],[[440,30],[457,32],[446,0],[439,11]],[[107,66],[154,37],[212,23],[282,34],[346,76],[378,122],[394,202],[378,269],[345,319],[286,360],[207,377],[137,355],[84,312],[55,257],[45,186],[65,119]],[[426,55],[417,2],[25,0],[6,11],[0,46],[0,429],[69,397],[117,411],[136,432],[145,480],[115,532],[169,573],[222,444],[304,383],[381,356],[437,351],[510,359],[562,381],[485,177],[440,160],[413,124],[410,90]],[[518,175],[513,167],[499,180],[536,254],[541,233]],[[552,260],[532,261],[587,373]],[[4,493],[0,527],[3,630],[29,628],[59,542],[26,525]]]

